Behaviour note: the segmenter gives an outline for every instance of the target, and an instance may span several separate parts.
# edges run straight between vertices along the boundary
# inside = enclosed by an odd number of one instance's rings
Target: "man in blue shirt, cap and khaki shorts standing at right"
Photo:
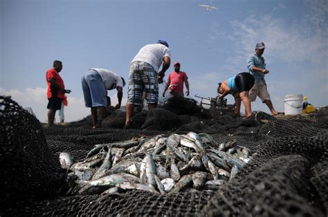
[[[247,61],[248,72],[255,78],[255,84],[253,88],[250,89],[248,98],[250,99],[250,102],[254,102],[258,96],[262,102],[268,106],[271,114],[277,115],[277,111],[275,111],[273,108],[273,104],[271,102],[270,95],[268,94],[266,82],[264,79],[264,75],[269,73],[269,71],[266,69],[264,57],[262,57],[264,49],[265,45],[263,42],[257,43],[255,46],[255,53],[251,55]]]

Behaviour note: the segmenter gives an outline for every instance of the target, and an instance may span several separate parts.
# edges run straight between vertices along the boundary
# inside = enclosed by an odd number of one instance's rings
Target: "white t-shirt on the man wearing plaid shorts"
[[[171,57],[170,49],[165,45],[147,44],[139,50],[138,54],[134,57],[131,63],[136,61],[146,62],[147,64],[153,66],[156,73],[158,73],[158,69],[161,67],[163,57],[165,56]]]

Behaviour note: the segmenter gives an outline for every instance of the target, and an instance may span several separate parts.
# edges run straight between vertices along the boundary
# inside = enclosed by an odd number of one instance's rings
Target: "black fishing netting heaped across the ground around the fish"
[[[186,103],[197,106],[190,100]],[[134,127],[122,130],[118,126],[124,123],[123,111],[111,113],[102,129],[91,129],[88,118],[67,126],[44,127],[10,97],[1,96],[0,106],[0,216],[328,214],[327,107],[308,116],[276,119],[258,112],[242,119],[220,109],[189,107],[183,114],[176,105],[175,110],[169,105],[141,111],[134,116]],[[237,141],[256,154],[216,191],[62,194],[67,176],[60,167],[62,152],[82,160],[95,144],[190,131],[208,133],[218,144]]]

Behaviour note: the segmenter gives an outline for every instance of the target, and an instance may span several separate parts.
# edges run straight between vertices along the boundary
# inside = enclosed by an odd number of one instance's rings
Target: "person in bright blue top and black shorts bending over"
[[[224,82],[219,83],[217,92],[221,94],[219,99],[223,99],[226,95],[231,94],[235,98],[235,114],[240,115],[240,106],[244,104],[245,115],[249,117],[252,114],[250,108],[250,100],[248,99],[249,90],[254,85],[254,77],[250,73],[239,73],[234,77],[226,79]]]

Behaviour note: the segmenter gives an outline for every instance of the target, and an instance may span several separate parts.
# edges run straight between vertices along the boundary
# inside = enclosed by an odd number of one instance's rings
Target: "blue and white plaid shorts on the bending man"
[[[142,105],[144,91],[148,104],[158,102],[158,75],[150,64],[133,62],[129,69],[127,103],[136,106]]]

